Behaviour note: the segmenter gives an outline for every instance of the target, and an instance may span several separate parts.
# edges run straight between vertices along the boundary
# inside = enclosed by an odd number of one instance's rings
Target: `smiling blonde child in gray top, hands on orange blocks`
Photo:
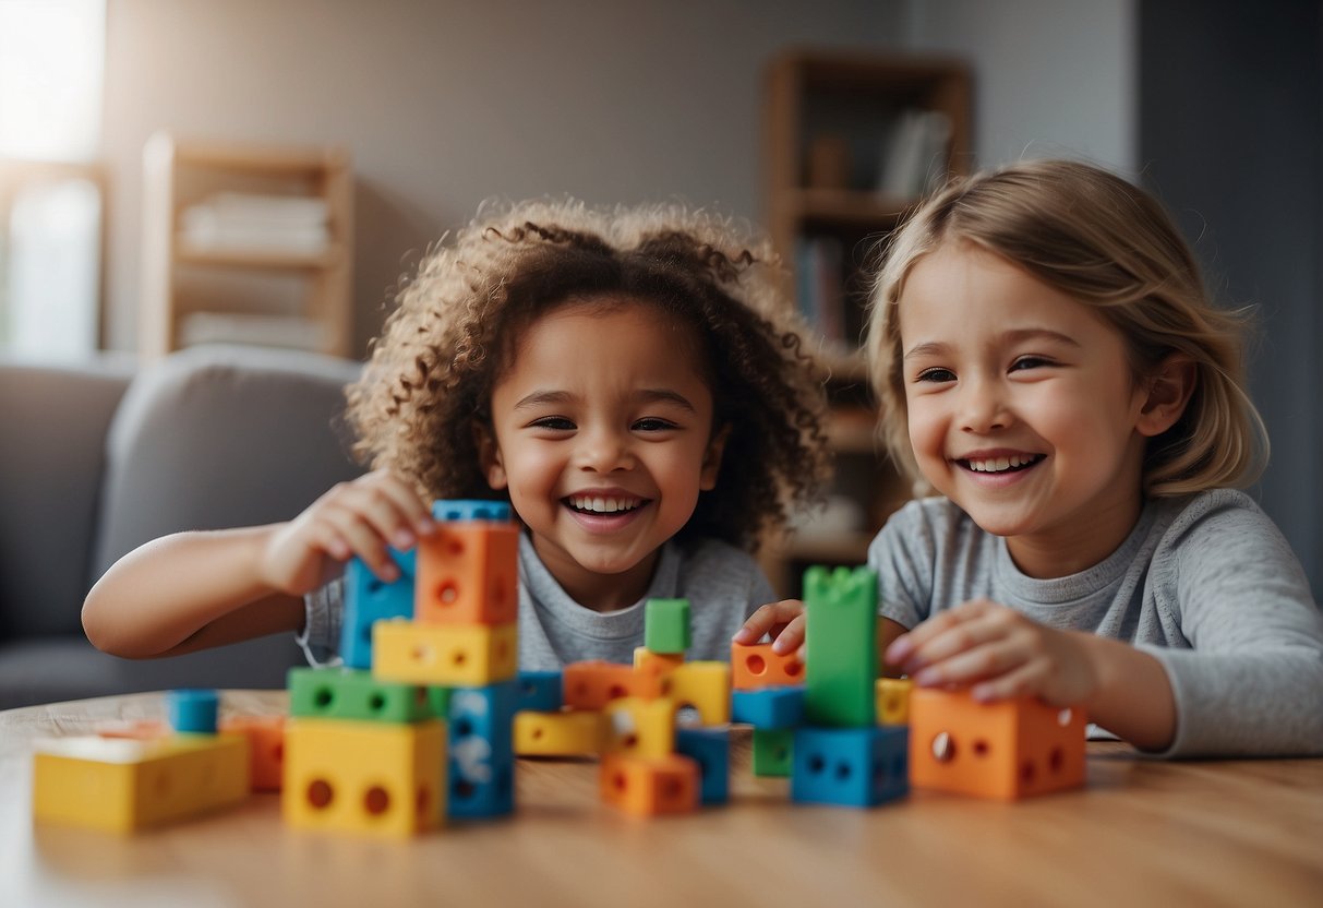
[[[1080,163],[957,180],[872,300],[888,449],[941,495],[869,549],[889,668],[1082,703],[1168,756],[1323,753],[1319,609],[1233,490],[1266,458],[1240,319],[1162,206]],[[766,606],[737,639],[796,647],[800,613]]]

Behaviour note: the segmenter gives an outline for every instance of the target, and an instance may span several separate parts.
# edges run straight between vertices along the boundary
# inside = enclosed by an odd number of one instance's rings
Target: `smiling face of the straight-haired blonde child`
[[[1088,568],[1139,515],[1147,393],[1121,332],[978,246],[947,242],[900,299],[905,400],[925,478],[1031,576]]]

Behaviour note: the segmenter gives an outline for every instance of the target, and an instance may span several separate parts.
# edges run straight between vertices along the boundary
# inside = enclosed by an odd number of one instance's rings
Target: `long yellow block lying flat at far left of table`
[[[33,754],[38,821],[132,833],[237,805],[247,794],[242,735],[64,737],[38,741]]]

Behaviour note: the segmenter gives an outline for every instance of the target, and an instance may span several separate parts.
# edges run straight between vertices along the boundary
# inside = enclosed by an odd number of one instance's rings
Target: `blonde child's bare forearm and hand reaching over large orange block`
[[[1095,721],[1135,747],[1167,748],[1176,702],[1162,663],[1129,643],[1045,627],[987,600],[925,621],[886,650],[922,687],[972,686],[980,700],[1033,695],[1052,705],[1082,704]]]

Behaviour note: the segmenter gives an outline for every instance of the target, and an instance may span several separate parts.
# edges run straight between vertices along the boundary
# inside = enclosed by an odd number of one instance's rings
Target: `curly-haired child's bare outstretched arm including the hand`
[[[394,580],[388,545],[431,532],[426,506],[377,471],[335,486],[288,523],[165,536],[130,552],[83,602],[98,649],[127,658],[177,655],[303,623],[303,594],[361,557]]]

